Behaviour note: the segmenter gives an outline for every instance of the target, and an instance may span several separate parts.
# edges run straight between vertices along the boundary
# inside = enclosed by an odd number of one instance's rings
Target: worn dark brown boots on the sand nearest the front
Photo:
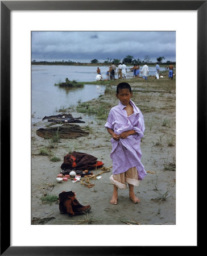
[[[82,205],[76,199],[73,191],[59,194],[59,210],[60,213],[68,213],[70,216],[87,213],[91,209],[90,205]]]

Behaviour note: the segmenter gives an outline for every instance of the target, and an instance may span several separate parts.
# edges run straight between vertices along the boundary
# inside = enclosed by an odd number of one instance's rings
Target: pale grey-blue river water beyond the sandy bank
[[[97,65],[98,67],[98,65]],[[45,115],[57,114],[56,110],[77,105],[98,98],[104,93],[104,85],[85,84],[83,88],[66,89],[55,86],[60,80],[76,80],[79,82],[95,81],[97,67],[72,65],[32,65],[32,122],[37,122]],[[103,79],[106,79],[107,66],[100,67]],[[142,67],[140,67],[142,70]],[[162,69],[160,69],[161,71]],[[163,68],[164,70],[164,68]],[[129,71],[129,69],[127,69]],[[155,67],[149,67],[149,75],[155,75]],[[126,79],[133,77],[126,73]],[[117,78],[117,75],[115,75]]]

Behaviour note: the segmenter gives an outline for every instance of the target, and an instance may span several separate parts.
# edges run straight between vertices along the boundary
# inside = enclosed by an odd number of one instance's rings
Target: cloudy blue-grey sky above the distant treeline
[[[127,55],[151,61],[176,60],[175,31],[32,31],[32,60],[123,60]]]

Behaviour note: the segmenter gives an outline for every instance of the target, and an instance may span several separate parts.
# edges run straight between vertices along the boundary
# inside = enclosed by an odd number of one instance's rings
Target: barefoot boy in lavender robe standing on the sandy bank
[[[113,175],[110,181],[114,184],[110,204],[117,204],[118,188],[125,189],[129,184],[129,197],[136,204],[140,199],[134,194],[134,186],[146,176],[143,164],[140,162],[142,152],[140,141],[145,130],[144,118],[139,108],[131,101],[133,92],[127,82],[117,86],[116,97],[119,104],[111,108],[105,127],[111,134],[111,159],[113,160]]]

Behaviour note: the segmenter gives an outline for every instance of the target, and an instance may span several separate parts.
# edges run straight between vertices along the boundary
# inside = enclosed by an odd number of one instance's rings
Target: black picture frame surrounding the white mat
[[[107,5],[106,1],[96,1],[96,5],[94,1],[1,1],[1,176],[6,167],[10,180],[12,10],[197,10],[197,174],[201,171],[206,158],[207,1],[108,1]],[[10,189],[10,184],[1,179],[1,255],[146,255],[149,250],[157,249],[156,246],[11,246]],[[192,247],[197,249],[198,246]],[[159,247],[159,254],[164,248]],[[172,250],[177,250],[176,246]]]

